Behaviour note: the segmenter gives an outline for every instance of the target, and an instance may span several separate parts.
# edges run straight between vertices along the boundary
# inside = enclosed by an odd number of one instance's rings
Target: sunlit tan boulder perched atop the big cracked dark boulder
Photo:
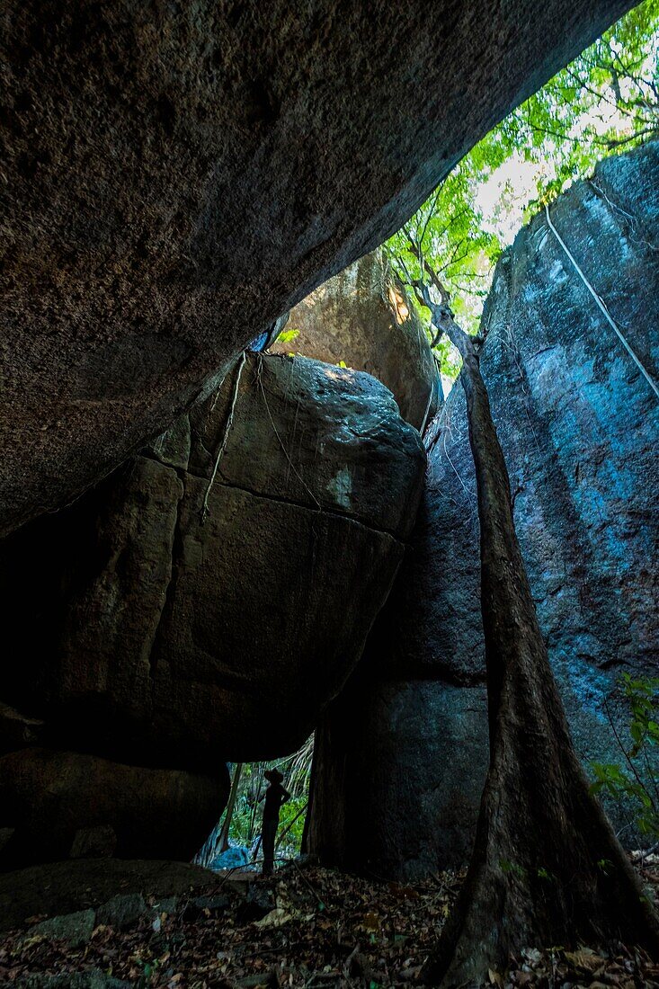
[[[382,249],[355,261],[293,309],[272,347],[367,371],[393,393],[401,415],[423,429],[443,401],[439,371],[414,306]]]

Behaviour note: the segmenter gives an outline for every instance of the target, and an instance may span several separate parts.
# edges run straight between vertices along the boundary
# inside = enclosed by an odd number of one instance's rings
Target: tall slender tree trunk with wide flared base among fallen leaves
[[[641,893],[574,752],[526,579],[510,481],[474,339],[432,307],[463,358],[481,527],[490,768],[458,902],[424,981],[480,984],[523,946],[619,940],[659,952]],[[437,321],[435,321],[437,320]]]

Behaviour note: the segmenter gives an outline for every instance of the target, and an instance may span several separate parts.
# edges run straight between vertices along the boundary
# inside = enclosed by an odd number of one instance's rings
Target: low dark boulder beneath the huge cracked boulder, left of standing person
[[[39,748],[14,752],[0,758],[0,827],[13,829],[0,850],[0,869],[69,855],[87,857],[89,842],[84,848],[80,839],[101,829],[107,848],[95,849],[92,857],[189,861],[228,795],[226,767],[211,778],[80,753]]]

